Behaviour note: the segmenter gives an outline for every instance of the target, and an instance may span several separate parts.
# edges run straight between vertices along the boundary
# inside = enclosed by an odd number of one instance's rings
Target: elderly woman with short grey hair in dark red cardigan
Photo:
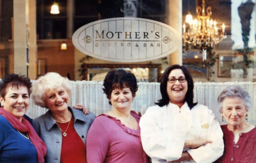
[[[255,163],[256,128],[246,122],[251,107],[248,92],[239,86],[229,86],[218,97],[222,120],[228,124],[221,125],[224,139],[224,154],[219,163]]]

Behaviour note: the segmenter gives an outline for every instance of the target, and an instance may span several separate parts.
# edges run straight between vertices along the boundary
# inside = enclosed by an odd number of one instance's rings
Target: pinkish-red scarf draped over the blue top
[[[44,163],[44,156],[46,155],[46,145],[44,144],[43,140],[39,138],[34,127],[29,123],[29,121],[22,117],[22,122],[20,122],[17,117],[15,117],[9,111],[5,110],[2,107],[0,108],[0,115],[5,117],[5,119],[7,119],[11,123],[12,127],[15,130],[19,130],[20,132],[28,132],[30,141],[36,147],[38,163]]]

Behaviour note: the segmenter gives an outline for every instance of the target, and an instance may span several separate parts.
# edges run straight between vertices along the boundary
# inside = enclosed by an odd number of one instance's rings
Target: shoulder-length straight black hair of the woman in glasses
[[[197,104],[197,103],[193,103],[194,81],[193,81],[192,76],[189,73],[188,69],[185,66],[180,66],[180,65],[172,65],[165,69],[164,73],[162,74],[162,79],[161,79],[161,83],[160,83],[160,92],[162,95],[162,99],[158,100],[158,103],[155,103],[155,104],[157,104],[160,107],[169,104],[170,100],[169,100],[169,96],[167,94],[166,88],[167,88],[168,76],[171,73],[171,71],[174,69],[181,69],[181,71],[185,75],[185,78],[187,79],[188,91],[185,96],[185,101],[188,103],[189,108],[192,109]]]

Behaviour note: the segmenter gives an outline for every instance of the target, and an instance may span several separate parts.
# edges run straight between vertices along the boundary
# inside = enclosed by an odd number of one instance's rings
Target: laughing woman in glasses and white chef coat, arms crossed
[[[162,99],[140,119],[142,146],[152,163],[211,163],[223,154],[220,124],[207,106],[193,103],[193,89],[186,67],[164,71]]]

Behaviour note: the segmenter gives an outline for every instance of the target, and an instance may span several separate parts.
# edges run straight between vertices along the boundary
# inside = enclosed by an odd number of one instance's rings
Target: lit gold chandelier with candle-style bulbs
[[[225,33],[225,24],[221,29],[217,27],[216,20],[211,19],[212,7],[208,6],[204,9],[205,3],[202,1],[202,7],[196,7],[197,17],[193,19],[188,11],[185,23],[183,23],[183,43],[191,44],[198,47],[212,47],[214,44],[220,43],[221,40],[227,38]]]

